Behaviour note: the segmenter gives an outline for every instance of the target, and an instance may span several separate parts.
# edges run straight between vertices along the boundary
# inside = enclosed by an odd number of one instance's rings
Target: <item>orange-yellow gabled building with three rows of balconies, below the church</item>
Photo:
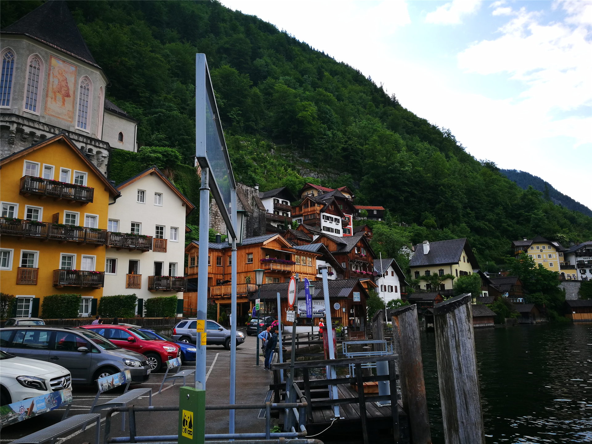
[[[81,314],[102,296],[107,208],[119,192],[63,134],[0,160],[0,280],[17,316],[41,315],[43,297],[82,294]]]

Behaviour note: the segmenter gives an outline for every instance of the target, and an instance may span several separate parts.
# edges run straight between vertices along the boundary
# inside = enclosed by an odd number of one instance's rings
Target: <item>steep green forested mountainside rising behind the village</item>
[[[38,4],[2,1],[2,27]],[[297,191],[305,176],[348,185],[356,202],[389,210],[387,223],[375,227],[383,257],[424,239],[468,237],[492,271],[513,239],[592,239],[592,218],[521,189],[354,67],[272,24],[217,2],[68,5],[111,82],[108,98],[140,121],[141,144],[170,147],[190,162],[195,53],[205,53],[237,179],[263,190]],[[110,174],[117,181],[158,157],[115,152]],[[175,183],[197,199],[189,167],[170,168],[182,172]]]

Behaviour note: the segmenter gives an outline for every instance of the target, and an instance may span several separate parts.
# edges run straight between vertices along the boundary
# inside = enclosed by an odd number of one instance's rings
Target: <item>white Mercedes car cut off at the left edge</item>
[[[67,369],[51,362],[19,358],[0,350],[0,405],[70,387]]]

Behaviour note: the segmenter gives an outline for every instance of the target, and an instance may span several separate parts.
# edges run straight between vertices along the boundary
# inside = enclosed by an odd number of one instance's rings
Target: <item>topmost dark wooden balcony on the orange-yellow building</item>
[[[50,197],[53,200],[79,202],[81,205],[92,203],[95,189],[89,186],[64,184],[59,181],[40,177],[23,176],[21,178],[20,194],[25,197],[34,195],[40,199]]]

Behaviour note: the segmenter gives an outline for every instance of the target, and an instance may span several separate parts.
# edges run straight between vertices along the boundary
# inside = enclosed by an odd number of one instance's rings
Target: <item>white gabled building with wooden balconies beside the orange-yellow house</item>
[[[109,206],[111,231],[105,256],[104,295],[132,294],[144,300],[176,295],[182,313],[186,289],[185,217],[195,207],[156,167],[116,187]]]

